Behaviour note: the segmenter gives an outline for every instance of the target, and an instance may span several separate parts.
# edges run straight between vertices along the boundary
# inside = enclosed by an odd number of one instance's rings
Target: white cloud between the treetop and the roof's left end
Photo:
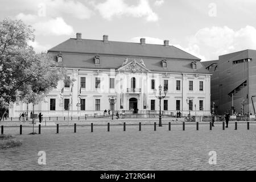
[[[47,19],[36,15],[20,13],[16,15],[16,18],[35,28],[36,35],[72,35],[74,32],[73,27],[65,23],[61,17]]]

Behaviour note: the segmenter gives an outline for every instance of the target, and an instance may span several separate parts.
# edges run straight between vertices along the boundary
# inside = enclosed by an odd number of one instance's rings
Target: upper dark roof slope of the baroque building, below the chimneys
[[[65,42],[49,49],[48,52],[98,53],[101,55],[127,55],[142,57],[163,57],[174,59],[200,60],[174,46],[157,44],[114,42],[104,43],[102,40],[68,39]]]

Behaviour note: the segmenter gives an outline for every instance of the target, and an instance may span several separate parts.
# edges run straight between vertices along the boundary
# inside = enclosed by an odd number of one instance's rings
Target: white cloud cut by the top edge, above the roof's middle
[[[124,0],[106,0],[103,3],[94,5],[101,16],[112,20],[113,16],[133,16],[135,18],[145,17],[148,22],[158,21],[158,15],[151,9],[148,0],[139,0],[137,6],[129,6]]]

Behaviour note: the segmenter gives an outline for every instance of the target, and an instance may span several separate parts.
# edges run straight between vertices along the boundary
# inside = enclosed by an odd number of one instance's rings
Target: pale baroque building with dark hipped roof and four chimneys
[[[84,116],[115,110],[127,114],[159,113],[155,97],[159,85],[167,90],[163,114],[210,115],[210,72],[200,59],[169,45],[68,39],[48,53],[73,81],[60,81],[45,101],[35,106],[44,116]],[[162,93],[163,93],[162,90]],[[114,100],[112,100],[114,98]],[[110,101],[115,102],[114,106]],[[14,104],[10,116],[31,111],[32,105]]]

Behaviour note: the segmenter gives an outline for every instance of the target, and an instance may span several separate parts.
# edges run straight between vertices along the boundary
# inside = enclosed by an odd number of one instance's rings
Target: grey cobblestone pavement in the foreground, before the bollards
[[[18,127],[6,128],[22,140],[22,146],[0,150],[1,170],[256,170],[256,125],[234,123],[223,131],[216,123],[209,125],[181,125],[157,127],[61,126],[43,127],[42,134],[28,135],[31,128],[19,135]],[[36,128],[36,132],[38,129]],[[38,152],[46,152],[46,165],[38,164]],[[208,163],[210,151],[217,152],[217,164]]]

